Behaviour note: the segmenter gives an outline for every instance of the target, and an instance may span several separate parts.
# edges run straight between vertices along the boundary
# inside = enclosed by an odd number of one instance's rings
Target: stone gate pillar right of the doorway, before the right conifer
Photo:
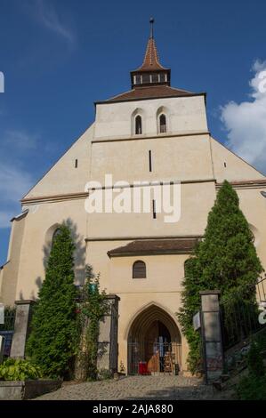
[[[206,383],[219,379],[223,371],[222,326],[219,304],[220,291],[200,292],[201,333]]]

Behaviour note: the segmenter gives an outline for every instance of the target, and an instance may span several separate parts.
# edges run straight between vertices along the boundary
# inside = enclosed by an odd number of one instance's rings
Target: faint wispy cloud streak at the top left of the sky
[[[43,24],[44,28],[61,36],[69,44],[74,44],[74,33],[60,21],[60,17],[54,6],[48,4],[47,0],[36,0],[36,17]]]

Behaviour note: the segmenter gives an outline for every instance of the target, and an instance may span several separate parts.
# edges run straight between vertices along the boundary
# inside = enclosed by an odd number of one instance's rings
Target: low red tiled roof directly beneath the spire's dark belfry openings
[[[175,89],[169,85],[148,85],[136,87],[129,92],[124,92],[110,98],[107,101],[152,99],[160,97],[193,96],[195,93],[186,90]]]

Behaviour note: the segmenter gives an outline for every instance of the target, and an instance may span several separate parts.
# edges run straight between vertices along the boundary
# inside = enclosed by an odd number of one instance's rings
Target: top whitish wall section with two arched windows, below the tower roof
[[[205,97],[200,95],[97,104],[94,139],[131,136],[135,109],[141,109],[143,135],[156,135],[157,109],[162,106],[168,109],[168,133],[207,131]]]

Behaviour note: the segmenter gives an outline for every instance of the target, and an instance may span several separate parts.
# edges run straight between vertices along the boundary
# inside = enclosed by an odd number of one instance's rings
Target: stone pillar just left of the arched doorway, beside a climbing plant
[[[99,335],[99,358],[97,368],[101,371],[109,370],[112,374],[117,372],[118,359],[118,301],[117,294],[108,294],[106,299],[109,301],[109,314],[100,322]]]

